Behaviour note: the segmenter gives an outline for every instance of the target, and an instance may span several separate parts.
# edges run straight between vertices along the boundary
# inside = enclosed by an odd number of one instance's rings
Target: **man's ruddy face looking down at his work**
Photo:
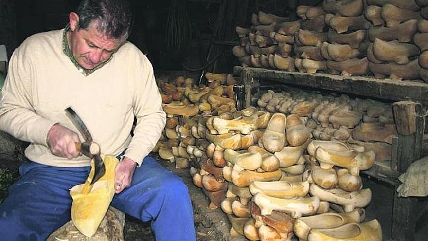
[[[69,32],[70,51],[77,63],[84,69],[92,70],[106,61],[121,45],[120,39],[107,37],[97,30],[96,22],[87,29],[71,26]]]

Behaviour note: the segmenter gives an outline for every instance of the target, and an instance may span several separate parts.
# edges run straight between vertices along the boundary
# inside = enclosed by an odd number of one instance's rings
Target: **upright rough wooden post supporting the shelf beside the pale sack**
[[[398,172],[404,173],[410,164],[421,158],[425,117],[421,117],[421,104],[411,101],[395,102],[392,110],[398,133],[396,152],[393,153],[396,154],[397,162],[392,164],[392,168],[396,167]],[[416,198],[399,198],[396,188],[392,210],[392,240],[413,241]]]

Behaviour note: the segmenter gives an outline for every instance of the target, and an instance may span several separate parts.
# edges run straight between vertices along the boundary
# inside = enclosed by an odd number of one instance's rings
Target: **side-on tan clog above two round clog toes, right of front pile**
[[[343,167],[354,176],[357,176],[360,170],[367,170],[375,164],[375,152],[373,151],[334,151],[318,147],[315,150],[315,158],[323,169],[333,166]]]

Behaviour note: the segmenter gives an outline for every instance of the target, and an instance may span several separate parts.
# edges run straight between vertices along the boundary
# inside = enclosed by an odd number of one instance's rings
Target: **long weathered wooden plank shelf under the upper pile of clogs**
[[[351,93],[385,100],[413,100],[428,104],[428,84],[415,81],[394,81],[362,76],[343,77],[334,74],[306,74],[253,67],[234,67],[233,73],[245,70],[253,78],[269,79],[284,84]]]

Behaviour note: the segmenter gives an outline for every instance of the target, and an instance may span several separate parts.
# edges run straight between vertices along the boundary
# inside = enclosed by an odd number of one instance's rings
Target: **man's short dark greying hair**
[[[129,36],[132,11],[127,0],[82,0],[77,14],[78,29],[88,29],[95,23],[107,37],[125,40]]]

